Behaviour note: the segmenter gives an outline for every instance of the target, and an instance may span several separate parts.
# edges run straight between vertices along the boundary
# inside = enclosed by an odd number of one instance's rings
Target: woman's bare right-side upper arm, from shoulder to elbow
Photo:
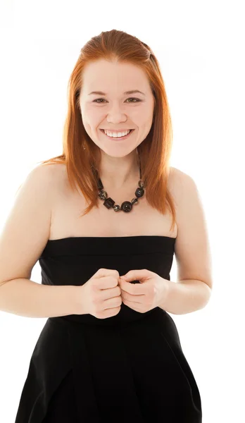
[[[203,281],[212,288],[211,249],[201,192],[187,173],[171,168],[170,174],[169,187],[176,202],[177,278]]]

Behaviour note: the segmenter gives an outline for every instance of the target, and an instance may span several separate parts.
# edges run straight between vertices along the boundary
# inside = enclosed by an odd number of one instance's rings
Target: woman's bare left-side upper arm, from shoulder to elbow
[[[54,166],[33,168],[15,192],[0,234],[0,286],[11,279],[30,278],[49,240]]]

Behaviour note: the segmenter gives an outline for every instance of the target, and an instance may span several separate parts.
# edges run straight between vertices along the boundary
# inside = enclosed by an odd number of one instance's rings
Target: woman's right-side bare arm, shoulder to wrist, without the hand
[[[211,251],[196,183],[186,173],[174,168],[169,185],[177,205],[177,282],[169,281],[168,294],[160,307],[172,314],[186,314],[202,309],[211,298]]]

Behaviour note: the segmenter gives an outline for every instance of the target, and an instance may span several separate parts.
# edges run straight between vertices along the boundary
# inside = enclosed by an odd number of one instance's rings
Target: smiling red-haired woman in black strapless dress
[[[151,49],[117,30],[89,40],[63,154],[29,174],[1,236],[1,309],[48,317],[15,423],[201,422],[168,313],[208,303],[208,235],[194,180],[170,168],[171,135]]]

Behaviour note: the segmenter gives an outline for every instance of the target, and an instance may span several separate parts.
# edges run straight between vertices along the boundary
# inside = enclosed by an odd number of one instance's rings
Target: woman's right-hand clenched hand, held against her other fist
[[[130,283],[139,281],[139,283]],[[146,313],[165,302],[170,281],[147,269],[130,270],[120,276],[122,302],[139,313]]]

